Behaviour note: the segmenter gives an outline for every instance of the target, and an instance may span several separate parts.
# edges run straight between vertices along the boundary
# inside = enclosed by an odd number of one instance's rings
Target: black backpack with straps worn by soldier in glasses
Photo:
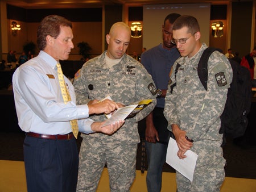
[[[207,90],[208,81],[208,59],[214,51],[220,51],[220,49],[213,47],[205,49],[197,66],[197,73],[205,90]],[[223,134],[222,147],[226,143],[225,136],[236,138],[243,136],[245,133],[248,124],[247,115],[250,112],[252,96],[249,70],[232,59],[229,59],[229,62],[232,66],[233,78],[232,84],[230,84],[228,89],[224,111],[220,116],[221,128],[219,133]],[[179,66],[179,64],[176,66],[175,78]],[[176,83],[171,86],[171,92],[175,85]]]

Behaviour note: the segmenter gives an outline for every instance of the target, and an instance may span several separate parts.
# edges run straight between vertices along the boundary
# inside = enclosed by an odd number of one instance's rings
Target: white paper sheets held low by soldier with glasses
[[[183,174],[183,176],[187,177],[190,181],[193,181],[197,155],[191,150],[188,150],[185,152],[187,157],[182,160],[177,156],[178,151],[179,148],[177,147],[177,143],[171,137],[168,143],[166,162],[179,173]]]

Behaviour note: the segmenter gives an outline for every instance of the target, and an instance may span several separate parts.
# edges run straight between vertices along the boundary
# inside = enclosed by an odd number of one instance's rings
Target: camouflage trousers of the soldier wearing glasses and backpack
[[[225,159],[217,158],[212,164],[195,168],[193,182],[176,171],[177,191],[181,192],[217,192],[225,180]]]

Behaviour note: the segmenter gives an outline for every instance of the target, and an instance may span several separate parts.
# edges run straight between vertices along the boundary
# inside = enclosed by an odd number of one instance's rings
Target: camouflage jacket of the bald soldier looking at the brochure
[[[152,103],[140,111],[134,118],[126,119],[125,124],[112,136],[102,133],[82,134],[82,137],[98,137],[105,144],[139,143],[137,122],[145,118],[156,105],[155,84],[144,66],[129,55],[108,68],[105,54],[87,61],[75,75],[75,92],[77,104],[88,103],[91,99],[101,100],[110,96],[113,101],[131,105],[143,99],[153,99]],[[106,116],[90,116],[95,121],[104,121]]]

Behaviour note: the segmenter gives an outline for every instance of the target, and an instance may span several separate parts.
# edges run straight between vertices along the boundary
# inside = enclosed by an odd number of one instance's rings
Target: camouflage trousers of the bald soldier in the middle
[[[137,146],[105,145],[94,138],[84,138],[79,154],[77,191],[96,191],[105,164],[110,191],[130,191],[136,175]]]

